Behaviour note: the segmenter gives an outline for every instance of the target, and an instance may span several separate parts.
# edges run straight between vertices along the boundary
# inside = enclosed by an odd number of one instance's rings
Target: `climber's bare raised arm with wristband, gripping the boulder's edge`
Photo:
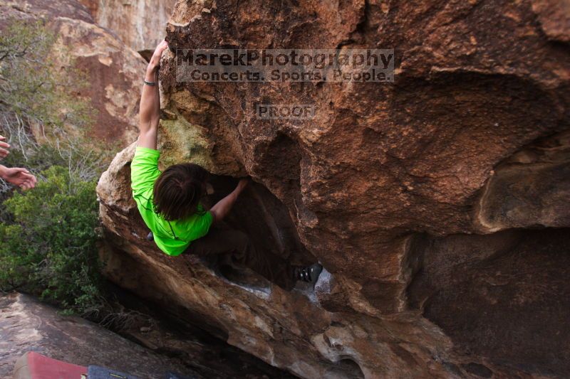
[[[140,95],[139,107],[139,129],[138,146],[156,149],[156,139],[158,136],[158,121],[160,119],[160,96],[158,95],[158,66],[162,51],[168,47],[166,41],[162,41],[155,49],[155,53],[150,58],[145,82],[155,83],[155,85],[143,85]]]

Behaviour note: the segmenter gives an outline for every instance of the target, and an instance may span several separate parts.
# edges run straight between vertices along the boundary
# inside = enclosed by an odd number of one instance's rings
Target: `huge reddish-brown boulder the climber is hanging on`
[[[173,49],[395,48],[396,80],[184,83],[166,53],[162,164],[202,164],[217,194],[252,176],[229,223],[327,272],[285,292],[163,255],[130,146],[98,186],[108,277],[301,378],[569,377],[564,6],[178,1]],[[262,120],[259,103],[316,117]]]

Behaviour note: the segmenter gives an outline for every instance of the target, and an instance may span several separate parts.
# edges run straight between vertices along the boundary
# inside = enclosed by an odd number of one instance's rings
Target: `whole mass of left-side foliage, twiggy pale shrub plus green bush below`
[[[39,180],[19,193],[0,179],[0,290],[83,314],[105,302],[95,182],[110,153],[83,135],[95,115],[77,96],[85,74],[56,43],[41,20],[11,21],[0,34],[0,134],[11,145],[2,163]]]

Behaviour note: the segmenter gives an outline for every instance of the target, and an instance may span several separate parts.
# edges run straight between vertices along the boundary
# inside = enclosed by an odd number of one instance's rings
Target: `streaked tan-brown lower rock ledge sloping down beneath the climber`
[[[103,252],[105,271],[121,287],[165,304],[182,319],[307,378],[421,377],[443,370],[432,356],[447,359],[450,344],[427,321],[419,321],[421,326],[415,330],[416,324],[410,323],[416,320],[410,314],[383,319],[331,313],[302,291],[284,292],[262,279],[254,286],[238,285],[195,257],[168,257],[157,250],[143,237],[147,230],[133,201],[121,195],[130,186],[133,148],[115,157],[98,186],[110,242]],[[250,189],[249,196],[269,205],[261,191]],[[279,208],[274,212],[259,206],[250,211],[252,218],[279,225],[274,218]],[[327,287],[324,282],[320,285]],[[366,304],[359,305],[365,308]],[[382,356],[393,363],[379,368],[375,362]]]

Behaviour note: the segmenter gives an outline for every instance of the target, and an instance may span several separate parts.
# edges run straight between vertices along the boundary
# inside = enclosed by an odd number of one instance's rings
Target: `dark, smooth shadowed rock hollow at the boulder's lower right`
[[[505,230],[432,240],[409,288],[464,353],[566,377],[570,229]]]

